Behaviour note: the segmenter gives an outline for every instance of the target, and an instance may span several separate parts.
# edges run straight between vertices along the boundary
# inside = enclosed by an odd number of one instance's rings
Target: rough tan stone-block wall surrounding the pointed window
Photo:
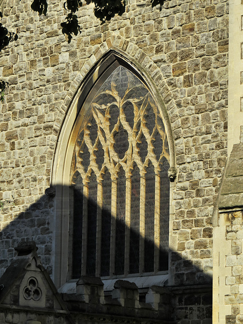
[[[0,54],[0,75],[10,83],[0,106],[1,269],[17,242],[28,238],[52,273],[55,198],[45,189],[57,138],[82,79],[112,48],[147,71],[170,118],[178,170],[170,238],[177,251],[174,284],[210,281],[211,216],[227,155],[227,1],[171,0],[159,11],[149,1],[130,0],[122,17],[102,25],[92,5],[84,5],[82,33],[70,44],[60,29],[63,2],[49,1],[46,17],[30,4],[2,3],[2,22],[17,28],[19,38]]]

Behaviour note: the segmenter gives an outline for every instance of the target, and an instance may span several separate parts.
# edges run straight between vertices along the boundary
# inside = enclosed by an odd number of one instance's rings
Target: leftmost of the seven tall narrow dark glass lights
[[[79,278],[82,264],[82,234],[83,234],[83,180],[78,172],[73,176],[75,187],[71,187],[73,194],[73,256],[72,277]]]

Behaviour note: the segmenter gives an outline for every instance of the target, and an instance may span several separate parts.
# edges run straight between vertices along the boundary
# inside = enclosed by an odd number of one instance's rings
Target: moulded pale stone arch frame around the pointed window
[[[78,89],[70,105],[67,117],[64,120],[64,124],[59,135],[52,177],[52,185],[56,186],[56,215],[53,222],[53,230],[55,232],[54,281],[57,287],[62,286],[67,280],[71,279],[71,257],[68,247],[72,246],[72,235],[70,235],[70,233],[73,231],[73,224],[72,221],[70,221],[72,207],[70,208],[68,173],[70,172],[72,152],[79,130],[78,125],[80,125],[80,121],[78,122],[78,119],[84,118],[87,111],[86,108],[82,107],[89,106],[97,90],[102,85],[103,80],[106,79],[118,66],[125,66],[131,70],[135,75],[143,80],[148,89],[151,89],[146,82],[144,75],[141,75],[141,73],[129,61],[124,59],[124,57],[121,57],[112,51],[93,68],[93,71],[88,74],[83,82],[83,85]],[[153,93],[152,90],[151,92]],[[156,99],[157,98],[155,97],[155,100]],[[161,109],[161,105],[158,103],[157,107],[160,110],[161,118],[163,118],[166,133],[168,134],[168,126],[170,131],[169,133],[171,133],[170,125],[168,125],[168,119],[164,119],[163,112],[165,111],[165,107],[162,107],[164,108],[164,111]],[[171,136],[168,137],[169,149],[170,153],[172,153],[170,154],[170,166],[174,166],[174,149],[170,139]],[[171,192],[172,187],[173,186],[171,186],[170,189]]]

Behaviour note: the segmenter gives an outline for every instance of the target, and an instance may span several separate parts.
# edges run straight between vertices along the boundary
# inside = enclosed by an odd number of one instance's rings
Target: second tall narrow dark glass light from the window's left
[[[89,179],[88,226],[87,226],[87,268],[86,274],[95,276],[96,270],[96,226],[97,226],[97,181],[92,171]]]

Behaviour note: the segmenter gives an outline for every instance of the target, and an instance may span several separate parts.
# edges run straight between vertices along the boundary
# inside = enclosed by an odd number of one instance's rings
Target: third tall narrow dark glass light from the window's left
[[[110,274],[111,177],[106,169],[102,181],[101,275]]]

